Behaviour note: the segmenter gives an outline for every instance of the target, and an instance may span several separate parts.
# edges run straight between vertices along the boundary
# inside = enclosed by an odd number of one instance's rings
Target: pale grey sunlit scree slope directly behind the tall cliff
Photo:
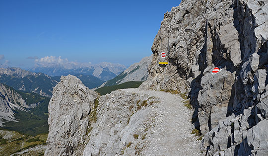
[[[117,77],[103,83],[100,87],[112,86],[128,81],[144,81],[148,77],[148,66],[152,61],[152,55],[144,57],[140,62],[134,63]]]

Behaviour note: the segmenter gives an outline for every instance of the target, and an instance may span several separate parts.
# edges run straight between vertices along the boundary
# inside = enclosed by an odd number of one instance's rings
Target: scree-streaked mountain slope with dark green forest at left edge
[[[17,92],[0,83],[0,126],[29,135],[47,133],[50,98],[36,93]]]

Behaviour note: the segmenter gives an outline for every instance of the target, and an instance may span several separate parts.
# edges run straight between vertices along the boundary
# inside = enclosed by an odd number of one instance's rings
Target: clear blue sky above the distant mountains
[[[129,66],[151,55],[164,13],[180,1],[0,0],[0,64],[27,69],[61,56]]]

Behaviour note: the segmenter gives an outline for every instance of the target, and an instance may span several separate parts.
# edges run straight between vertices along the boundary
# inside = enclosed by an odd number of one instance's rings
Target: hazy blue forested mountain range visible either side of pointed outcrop
[[[94,76],[77,75],[83,83],[91,88],[98,87],[104,81]],[[50,77],[43,73],[33,73],[20,68],[1,68],[0,82],[24,92],[34,92],[42,96],[51,97],[53,87],[60,81],[60,77]]]

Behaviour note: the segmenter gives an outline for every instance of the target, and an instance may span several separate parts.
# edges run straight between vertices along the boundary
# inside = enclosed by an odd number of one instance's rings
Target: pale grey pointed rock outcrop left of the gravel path
[[[97,93],[74,76],[62,76],[50,100],[46,156],[81,156]]]

